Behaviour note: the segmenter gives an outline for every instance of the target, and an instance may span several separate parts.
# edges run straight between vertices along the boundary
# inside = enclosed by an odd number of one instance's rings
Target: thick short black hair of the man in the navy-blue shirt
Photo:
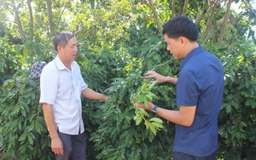
[[[162,33],[170,38],[187,37],[190,41],[197,41],[199,35],[195,23],[181,15],[168,20]]]

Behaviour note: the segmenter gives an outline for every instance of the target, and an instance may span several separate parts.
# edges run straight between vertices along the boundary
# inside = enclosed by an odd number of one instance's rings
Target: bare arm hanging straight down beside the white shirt
[[[43,103],[43,111],[44,111],[44,120],[49,130],[49,136],[51,139],[51,150],[55,152],[55,154],[64,154],[63,151],[63,143],[57,133],[56,125],[55,125],[55,115],[52,110],[52,105],[47,103]]]

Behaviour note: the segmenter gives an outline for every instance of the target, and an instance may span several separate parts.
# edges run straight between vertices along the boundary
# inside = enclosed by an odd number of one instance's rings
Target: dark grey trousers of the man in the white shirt
[[[56,160],[87,160],[85,134],[63,134],[58,133],[62,143],[64,155],[56,155]]]

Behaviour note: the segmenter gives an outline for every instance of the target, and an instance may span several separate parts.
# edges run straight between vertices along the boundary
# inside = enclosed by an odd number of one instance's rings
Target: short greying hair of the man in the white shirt
[[[53,39],[53,43],[55,46],[55,51],[58,52],[57,47],[60,45],[65,48],[68,41],[73,38],[75,35],[71,31],[61,31],[55,38]]]

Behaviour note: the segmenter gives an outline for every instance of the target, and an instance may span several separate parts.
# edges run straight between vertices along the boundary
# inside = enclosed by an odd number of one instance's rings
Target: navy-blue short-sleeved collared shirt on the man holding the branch
[[[218,58],[201,46],[193,49],[180,64],[177,105],[196,106],[190,127],[176,124],[173,151],[197,157],[218,148],[218,113],[224,91],[224,70]]]

